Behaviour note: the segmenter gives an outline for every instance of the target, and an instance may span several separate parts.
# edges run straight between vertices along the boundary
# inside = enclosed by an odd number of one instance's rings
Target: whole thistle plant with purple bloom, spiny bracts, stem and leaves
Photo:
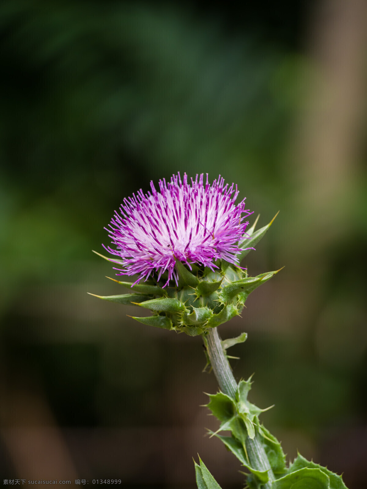
[[[191,178],[191,184],[186,174],[182,182],[179,173],[169,183],[164,179],[159,183],[160,192],[151,182],[152,192],[144,195],[139,190],[137,196],[124,199],[108,230],[116,249],[106,249],[116,258],[100,255],[121,266],[115,268],[118,275],[138,274],[134,284],[112,279],[134,293],[97,297],[152,311],[151,316],[133,317],[145,325],[203,336],[207,365],[221,389],[209,395],[207,404],[221,421],[211,436],[217,436],[248,469],[248,487],[328,489],[332,482],[333,488],[346,489],[341,477],[299,454],[286,466],[280,443],[258,419],[269,408],[260,409],[248,400],[251,377],[237,384],[230,370],[227,349],[245,341],[247,333],[221,341],[216,330],[239,315],[249,294],[277,273],[249,277],[239,266],[275,218],[255,232],[256,220],[246,231],[244,220],[251,212],[244,200],[235,205],[237,186],[235,190],[233,183],[224,186],[221,176],[212,185],[206,176],[205,186],[203,174],[195,181]],[[232,436],[221,436],[220,431],[231,431]],[[198,488],[219,488],[202,460],[195,463],[195,473]]]

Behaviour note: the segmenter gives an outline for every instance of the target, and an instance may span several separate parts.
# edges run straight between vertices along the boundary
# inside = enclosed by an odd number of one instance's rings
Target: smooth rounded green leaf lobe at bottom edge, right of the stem
[[[272,489],[331,489],[329,477],[319,468],[301,468],[273,482]]]

